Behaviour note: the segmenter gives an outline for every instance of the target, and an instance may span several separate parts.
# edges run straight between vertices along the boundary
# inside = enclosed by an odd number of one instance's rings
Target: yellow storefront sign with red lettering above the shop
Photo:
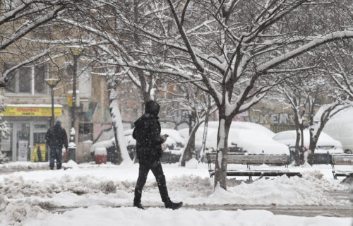
[[[6,107],[4,112],[0,112],[4,116],[21,116],[21,117],[51,117],[52,107]],[[61,107],[54,107],[54,116],[61,116]]]

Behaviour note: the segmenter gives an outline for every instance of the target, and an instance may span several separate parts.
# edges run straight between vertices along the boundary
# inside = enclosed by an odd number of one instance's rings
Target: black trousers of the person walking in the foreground
[[[145,160],[140,160],[140,168],[138,170],[138,179],[135,187],[135,198],[133,198],[133,204],[138,204],[141,202],[141,195],[143,186],[145,186],[148,172],[150,170],[155,175],[155,179],[157,181],[158,189],[160,190],[160,197],[164,203],[170,202],[168,196],[167,185],[165,184],[165,177],[163,174],[162,165],[160,161],[150,162]]]

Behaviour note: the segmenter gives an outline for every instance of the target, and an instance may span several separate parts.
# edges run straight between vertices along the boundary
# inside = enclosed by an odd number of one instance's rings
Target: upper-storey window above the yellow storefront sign
[[[16,66],[13,63],[6,63],[5,71]],[[44,79],[47,78],[48,65],[40,64],[36,66],[21,66],[19,69],[9,73],[9,81],[6,85],[6,93],[24,94],[46,94],[47,89]]]

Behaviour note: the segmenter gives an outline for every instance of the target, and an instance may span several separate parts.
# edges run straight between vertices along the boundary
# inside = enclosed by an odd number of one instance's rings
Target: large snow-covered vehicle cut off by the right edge
[[[353,107],[338,112],[330,119],[323,131],[342,143],[342,149],[347,154],[353,153]]]

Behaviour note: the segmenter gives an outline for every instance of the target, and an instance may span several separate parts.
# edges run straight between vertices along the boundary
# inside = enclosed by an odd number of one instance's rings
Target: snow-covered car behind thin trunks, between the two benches
[[[304,129],[304,150],[308,150],[310,143],[310,133],[308,129]],[[289,147],[290,150],[294,150],[295,148],[295,140],[296,140],[296,131],[282,131],[280,133],[276,133],[273,136],[273,140],[283,143]],[[336,141],[332,137],[328,136],[328,134],[321,132],[318,137],[318,143],[316,145],[315,153],[343,153],[342,145],[340,141]]]

